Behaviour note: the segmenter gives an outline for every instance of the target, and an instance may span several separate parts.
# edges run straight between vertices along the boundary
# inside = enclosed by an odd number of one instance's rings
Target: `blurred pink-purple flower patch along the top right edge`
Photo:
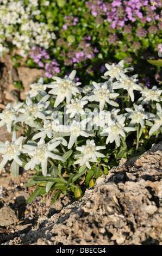
[[[156,1],[160,5],[160,1]],[[104,1],[86,1],[86,6],[91,10],[94,17],[104,15],[108,22],[111,22],[112,28],[120,29],[127,21],[135,22],[139,20],[142,23],[159,19],[159,14],[155,15],[154,10],[159,5],[150,5],[148,0],[117,0],[112,3]],[[143,8],[146,14],[144,15]],[[145,16],[145,17],[144,17]]]

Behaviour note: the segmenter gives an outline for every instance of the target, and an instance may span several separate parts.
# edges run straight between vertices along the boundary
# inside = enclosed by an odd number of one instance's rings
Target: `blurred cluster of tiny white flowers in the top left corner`
[[[0,1],[1,34],[0,42],[5,51],[9,51],[7,42],[20,50],[22,57],[27,57],[31,46],[48,48],[56,39],[54,32],[48,31],[45,22],[35,21],[40,15],[39,1]]]

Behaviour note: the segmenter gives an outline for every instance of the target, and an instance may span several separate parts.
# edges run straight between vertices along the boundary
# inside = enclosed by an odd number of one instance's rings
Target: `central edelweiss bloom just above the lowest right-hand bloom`
[[[86,129],[86,124],[88,123],[89,118],[85,118],[82,121],[78,121],[77,119],[71,120],[68,126],[63,125],[62,131],[70,133],[70,139],[67,145],[68,149],[71,149],[73,144],[77,141],[79,136],[89,137],[94,136],[95,133]]]

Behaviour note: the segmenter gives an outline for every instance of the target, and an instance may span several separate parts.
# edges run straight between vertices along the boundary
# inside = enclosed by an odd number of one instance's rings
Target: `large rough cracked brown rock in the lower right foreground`
[[[84,197],[3,245],[162,245],[162,143],[122,160]]]

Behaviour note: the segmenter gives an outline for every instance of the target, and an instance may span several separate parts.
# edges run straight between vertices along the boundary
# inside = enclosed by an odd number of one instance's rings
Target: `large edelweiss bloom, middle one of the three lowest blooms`
[[[52,151],[57,151],[56,147],[60,144],[60,141],[54,143],[45,143],[44,137],[40,139],[38,144],[29,145],[24,144],[24,152],[29,156],[32,156],[31,160],[24,167],[25,170],[34,169],[36,164],[41,164],[42,173],[44,176],[47,175],[47,162],[48,157],[54,160],[65,161],[65,159],[59,155],[53,154]]]

